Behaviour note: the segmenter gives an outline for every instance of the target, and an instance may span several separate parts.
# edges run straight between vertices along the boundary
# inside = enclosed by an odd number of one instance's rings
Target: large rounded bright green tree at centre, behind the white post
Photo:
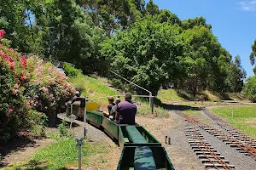
[[[119,75],[156,94],[161,83],[178,77],[178,56],[183,49],[178,29],[148,17],[135,23],[130,31],[119,31],[105,42],[102,55],[111,61],[111,68]]]

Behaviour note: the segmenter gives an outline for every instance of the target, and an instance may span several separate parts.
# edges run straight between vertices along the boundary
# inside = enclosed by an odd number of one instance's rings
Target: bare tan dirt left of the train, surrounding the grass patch
[[[59,118],[64,118],[64,115],[60,115]],[[68,121],[68,118],[65,118]],[[84,135],[84,123],[75,121],[76,126],[73,127],[76,138],[81,138]],[[95,169],[108,169],[115,170],[118,162],[121,150],[117,144],[114,144],[112,139],[103,133],[96,127],[86,123],[88,128],[87,141],[95,144],[106,146],[102,154],[96,154],[88,157],[88,161],[84,169],[95,170]],[[58,133],[57,128],[47,128],[47,133]],[[0,145],[0,153],[3,156],[3,160],[0,161],[0,169],[2,167],[11,167],[13,163],[18,161],[28,161],[34,156],[37,150],[40,150],[49,144],[54,143],[54,139],[34,139],[30,135],[22,136],[12,144]],[[8,148],[9,147],[9,148]],[[111,154],[109,154],[111,153]],[[78,169],[77,165],[67,165],[67,169]]]

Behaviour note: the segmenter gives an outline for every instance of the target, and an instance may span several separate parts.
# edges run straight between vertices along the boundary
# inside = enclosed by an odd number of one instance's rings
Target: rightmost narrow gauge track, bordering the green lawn
[[[256,148],[256,141],[251,137],[247,136],[247,134],[242,133],[236,127],[232,127],[228,122],[225,122],[219,116],[213,115],[210,111],[205,108],[202,108],[203,111],[207,116],[209,116],[214,122],[218,124],[218,126],[224,128],[228,133],[230,133],[234,138],[239,140],[243,144],[251,145],[253,148]]]

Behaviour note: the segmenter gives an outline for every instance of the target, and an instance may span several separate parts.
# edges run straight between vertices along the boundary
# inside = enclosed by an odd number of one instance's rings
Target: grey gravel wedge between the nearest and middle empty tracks
[[[256,169],[256,161],[254,161],[251,156],[239,153],[235,148],[231,148],[229,144],[225,144],[223,141],[204,130],[201,130],[201,133],[208,140],[209,144],[211,144],[215,150],[218,150],[221,156],[224,156],[226,160],[229,160],[230,164],[235,165],[236,170]]]

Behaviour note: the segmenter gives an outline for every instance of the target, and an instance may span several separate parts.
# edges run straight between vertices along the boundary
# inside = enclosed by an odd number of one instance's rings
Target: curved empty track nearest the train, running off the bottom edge
[[[187,121],[185,134],[190,146],[195,151],[195,154],[201,159],[205,167],[213,167],[215,169],[232,169],[234,165],[228,164],[230,161],[225,160],[224,156],[220,156],[217,150],[213,150],[212,146],[207,142],[203,135],[197,129],[195,122]]]

